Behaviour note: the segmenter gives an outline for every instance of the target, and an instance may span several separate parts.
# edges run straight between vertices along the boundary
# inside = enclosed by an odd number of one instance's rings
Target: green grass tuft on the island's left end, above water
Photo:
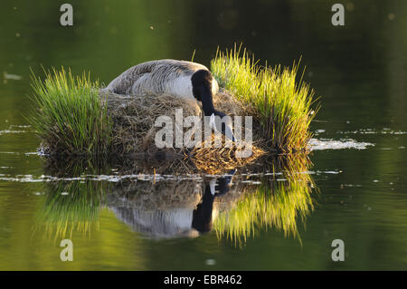
[[[42,81],[32,76],[36,110],[28,117],[33,129],[52,153],[97,154],[107,152],[111,123],[99,99],[99,82],[84,72],[52,69]]]

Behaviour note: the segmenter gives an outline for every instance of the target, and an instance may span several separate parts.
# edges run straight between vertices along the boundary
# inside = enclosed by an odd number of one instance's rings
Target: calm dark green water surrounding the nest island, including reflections
[[[66,28],[57,4],[5,1],[0,269],[407,269],[407,4],[348,2],[345,27],[334,27],[333,3],[71,1]],[[86,69],[106,83],[194,50],[209,65],[218,45],[241,41],[263,63],[302,55],[304,79],[322,96],[310,161],[213,178],[154,175],[145,164],[123,171],[120,162],[52,166],[35,153],[24,119],[30,67]],[[213,185],[224,194],[211,197]],[[62,238],[73,262],[60,260]],[[344,262],[331,259],[334,239],[345,242]]]

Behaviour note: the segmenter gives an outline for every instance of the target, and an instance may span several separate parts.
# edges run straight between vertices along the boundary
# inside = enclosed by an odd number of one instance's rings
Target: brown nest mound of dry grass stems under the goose
[[[182,116],[198,116],[202,119],[203,113],[200,105],[196,101],[179,99],[171,95],[119,95],[112,92],[101,90],[100,97],[107,104],[108,113],[112,120],[113,140],[111,143],[112,151],[118,154],[147,154],[153,155],[163,152],[178,156],[179,158],[190,159],[197,169],[203,169],[208,173],[221,173],[227,169],[241,167],[253,159],[257,159],[263,150],[252,146],[251,155],[245,158],[239,158],[236,151],[245,147],[244,142],[239,145],[221,146],[217,148],[206,148],[204,140],[195,144],[192,148],[185,146],[175,146],[171,148],[159,149],[156,146],[155,138],[158,130],[162,127],[156,126],[158,116],[171,118],[173,123],[173,135],[175,130],[182,131],[184,134],[192,128],[184,128],[182,123],[176,122],[176,111],[182,109]],[[245,108],[241,102],[237,101],[232,93],[222,90],[213,96],[214,106],[229,116],[252,115],[250,108]],[[180,113],[178,111],[178,113]],[[179,115],[179,114],[178,114]],[[204,131],[204,128],[201,128]],[[213,141],[223,136],[212,135]],[[203,138],[204,139],[204,138]]]

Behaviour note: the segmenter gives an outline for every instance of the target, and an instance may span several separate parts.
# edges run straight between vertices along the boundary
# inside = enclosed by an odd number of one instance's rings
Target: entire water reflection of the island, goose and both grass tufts
[[[213,229],[219,238],[225,235],[242,245],[264,227],[299,237],[297,218],[304,221],[313,209],[310,161],[306,155],[262,161],[271,168],[270,176],[252,179],[176,177],[174,169],[172,175],[140,175],[145,170],[137,166],[102,175],[109,172],[109,162],[52,160],[47,168],[55,179],[46,184],[37,228],[55,241],[73,232],[90,236],[99,230],[102,207],[109,207],[134,231],[156,239],[196,237]]]

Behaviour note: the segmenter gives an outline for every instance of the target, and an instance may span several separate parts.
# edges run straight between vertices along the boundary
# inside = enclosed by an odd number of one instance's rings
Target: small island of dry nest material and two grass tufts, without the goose
[[[291,153],[307,150],[311,137],[309,124],[314,92],[308,84],[296,82],[298,64],[291,69],[260,67],[245,50],[217,52],[211,72],[220,85],[213,96],[215,106],[228,115],[253,117],[253,147],[250,158],[236,158],[232,148],[165,149],[181,156],[193,156],[195,165],[241,166],[265,152]],[[33,129],[50,155],[95,156],[156,152],[154,126],[159,115],[175,116],[182,108],[184,117],[202,115],[196,103],[171,96],[123,96],[100,90],[90,74],[73,76],[71,71],[45,72],[45,80],[33,76],[36,110],[29,116]],[[206,158],[206,159],[205,159]],[[208,159],[209,158],[209,159]],[[216,165],[214,165],[216,167]],[[228,167],[228,166],[226,166]],[[227,168],[226,168],[227,169]],[[212,170],[213,171],[213,170]]]

